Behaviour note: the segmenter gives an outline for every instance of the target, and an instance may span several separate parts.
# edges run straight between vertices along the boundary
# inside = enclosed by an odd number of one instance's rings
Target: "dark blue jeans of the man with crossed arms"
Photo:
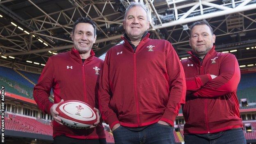
[[[198,135],[185,134],[185,144],[246,144],[242,128],[226,130],[216,139],[206,139]]]

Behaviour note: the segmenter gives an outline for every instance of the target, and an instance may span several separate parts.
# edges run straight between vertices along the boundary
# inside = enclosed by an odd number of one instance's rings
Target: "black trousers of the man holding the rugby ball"
[[[107,144],[106,139],[74,139],[66,135],[56,136],[54,144]]]

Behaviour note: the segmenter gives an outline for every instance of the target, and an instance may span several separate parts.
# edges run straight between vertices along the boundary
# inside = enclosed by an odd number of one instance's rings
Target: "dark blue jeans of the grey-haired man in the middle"
[[[115,144],[175,144],[171,126],[154,123],[142,131],[119,126],[113,131]]]

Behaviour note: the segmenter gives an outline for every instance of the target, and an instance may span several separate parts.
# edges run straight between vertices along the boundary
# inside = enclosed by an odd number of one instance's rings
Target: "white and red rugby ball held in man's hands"
[[[70,128],[89,128],[98,119],[93,107],[82,101],[64,101],[57,106],[56,111],[59,112],[57,117]]]

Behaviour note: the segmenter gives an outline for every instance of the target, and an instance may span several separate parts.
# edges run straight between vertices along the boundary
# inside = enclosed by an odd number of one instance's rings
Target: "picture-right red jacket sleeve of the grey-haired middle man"
[[[181,104],[185,103],[186,81],[181,61],[169,42],[166,51],[166,67],[170,92],[165,112],[160,120],[174,125]]]

